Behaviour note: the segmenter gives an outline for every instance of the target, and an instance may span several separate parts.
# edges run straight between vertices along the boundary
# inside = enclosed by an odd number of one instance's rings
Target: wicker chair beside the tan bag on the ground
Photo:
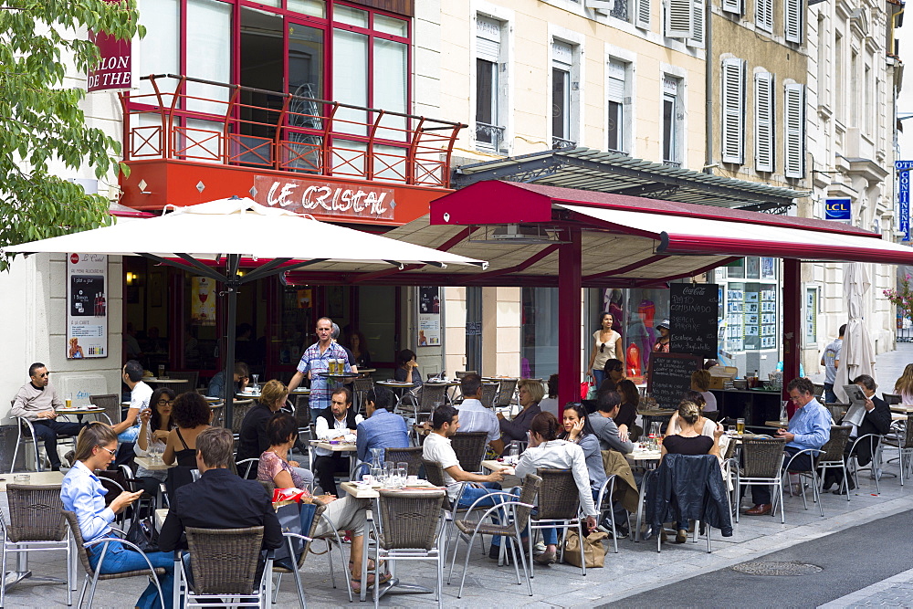
[[[580,494],[577,482],[570,469],[551,469],[537,467],[536,473],[542,478],[539,489],[539,501],[536,512],[530,517],[530,541],[532,530],[557,528],[562,530],[576,529],[581,541],[583,520],[580,517]],[[587,489],[587,492],[590,492]],[[561,546],[561,562],[564,561],[564,546]],[[583,559],[583,544],[580,544],[581,572],[586,575],[586,561]],[[530,563],[530,579],[535,577]]]

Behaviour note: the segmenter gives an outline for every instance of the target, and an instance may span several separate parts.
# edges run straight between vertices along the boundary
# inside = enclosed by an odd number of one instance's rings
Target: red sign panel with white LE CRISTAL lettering
[[[343,184],[323,180],[257,175],[254,200],[299,214],[337,218],[393,220],[395,189],[376,184]]]

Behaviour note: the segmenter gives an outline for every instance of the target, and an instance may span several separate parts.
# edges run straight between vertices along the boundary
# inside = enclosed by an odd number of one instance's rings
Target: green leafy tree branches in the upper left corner
[[[88,31],[142,37],[136,0],[5,0],[0,10],[0,247],[111,223],[106,197],[54,173],[129,171],[121,143],[86,124],[86,90],[66,86],[68,70],[86,74],[100,59]],[[0,270],[10,260],[0,255]]]

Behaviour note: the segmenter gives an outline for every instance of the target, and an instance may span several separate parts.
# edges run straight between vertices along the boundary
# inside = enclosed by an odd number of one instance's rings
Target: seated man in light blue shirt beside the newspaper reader
[[[804,378],[792,379],[786,390],[790,392],[792,404],[797,410],[790,419],[787,429],[778,429],[777,437],[786,440],[786,458],[783,466],[789,462],[790,457],[807,448],[821,448],[831,439],[831,413],[828,412],[818,400],[814,398],[814,385]],[[796,458],[790,466],[790,471],[810,471],[812,457],[804,453]],[[754,507],[745,513],[749,516],[761,516],[771,512],[771,488],[767,486],[752,486],[751,500]]]

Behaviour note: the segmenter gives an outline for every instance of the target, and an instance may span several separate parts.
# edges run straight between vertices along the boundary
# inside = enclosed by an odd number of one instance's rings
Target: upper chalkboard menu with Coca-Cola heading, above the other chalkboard
[[[669,286],[669,351],[717,357],[719,286],[715,283],[673,283]]]

